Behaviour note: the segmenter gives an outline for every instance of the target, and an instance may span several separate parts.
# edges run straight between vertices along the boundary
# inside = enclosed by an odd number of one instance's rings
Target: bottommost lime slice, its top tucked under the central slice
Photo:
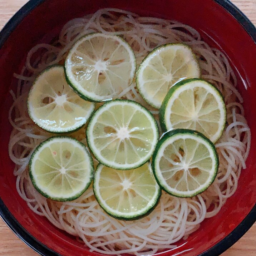
[[[120,220],[137,220],[148,215],[161,197],[149,162],[128,171],[99,164],[94,174],[93,191],[103,210]]]

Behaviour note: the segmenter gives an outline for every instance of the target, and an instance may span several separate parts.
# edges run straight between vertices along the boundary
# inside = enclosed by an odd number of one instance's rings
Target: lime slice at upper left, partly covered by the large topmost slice
[[[95,104],[81,99],[65,80],[64,68],[54,65],[36,78],[28,96],[30,118],[53,133],[72,132],[82,127]]]

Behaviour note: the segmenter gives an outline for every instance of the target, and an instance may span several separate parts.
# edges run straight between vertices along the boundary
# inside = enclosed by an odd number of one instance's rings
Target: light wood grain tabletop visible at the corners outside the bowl
[[[256,0],[231,0],[256,25]],[[0,29],[23,6],[27,0],[0,0]],[[26,246],[0,219],[0,255],[35,256],[36,252]],[[256,256],[256,223],[222,256]]]

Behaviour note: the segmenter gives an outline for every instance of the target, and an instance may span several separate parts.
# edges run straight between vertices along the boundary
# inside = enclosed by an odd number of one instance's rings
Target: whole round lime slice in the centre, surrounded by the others
[[[112,100],[99,107],[86,131],[95,158],[114,169],[134,169],[146,163],[159,132],[153,115],[131,100]]]

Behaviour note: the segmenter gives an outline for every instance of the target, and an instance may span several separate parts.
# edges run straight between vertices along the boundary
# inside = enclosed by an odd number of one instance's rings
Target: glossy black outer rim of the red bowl
[[[16,26],[27,16],[33,9],[43,3],[45,0],[30,0],[26,3],[16,14],[5,24],[4,28],[0,31],[0,48],[3,46],[9,35],[14,31]],[[251,21],[229,0],[213,0],[221,5],[228,13],[230,13],[247,31],[256,44],[256,28]],[[59,253],[51,250],[43,243],[33,237],[10,213],[5,206],[3,200],[0,198],[0,217],[6,223],[6,225],[20,238],[26,245],[32,248],[35,252],[43,256],[61,256]],[[216,245],[212,246],[207,251],[201,253],[199,256],[218,256],[228,248],[230,248],[235,242],[237,242],[256,222],[256,204],[248,215],[241,221],[241,223],[225,238],[223,238]]]

